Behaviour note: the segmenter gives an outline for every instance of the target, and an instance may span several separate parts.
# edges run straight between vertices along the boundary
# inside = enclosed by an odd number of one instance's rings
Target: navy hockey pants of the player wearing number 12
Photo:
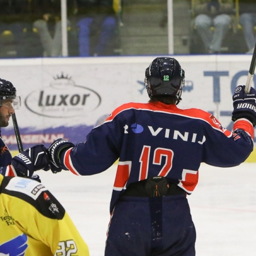
[[[125,196],[115,205],[105,256],[193,256],[195,241],[185,195]]]

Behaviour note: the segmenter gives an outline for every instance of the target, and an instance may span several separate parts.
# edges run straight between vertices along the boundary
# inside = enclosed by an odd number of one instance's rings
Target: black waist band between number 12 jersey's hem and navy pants
[[[186,192],[174,181],[166,177],[155,176],[129,184],[121,196],[161,197],[185,194]]]

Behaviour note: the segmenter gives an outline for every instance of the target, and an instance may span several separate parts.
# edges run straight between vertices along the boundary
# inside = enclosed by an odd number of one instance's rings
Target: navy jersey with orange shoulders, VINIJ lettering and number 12
[[[79,143],[61,155],[63,166],[76,175],[93,175],[119,158],[110,211],[130,183],[166,176],[192,193],[202,162],[232,167],[253,151],[253,125],[234,122],[233,133],[200,109],[176,105],[129,103],[119,106]]]

